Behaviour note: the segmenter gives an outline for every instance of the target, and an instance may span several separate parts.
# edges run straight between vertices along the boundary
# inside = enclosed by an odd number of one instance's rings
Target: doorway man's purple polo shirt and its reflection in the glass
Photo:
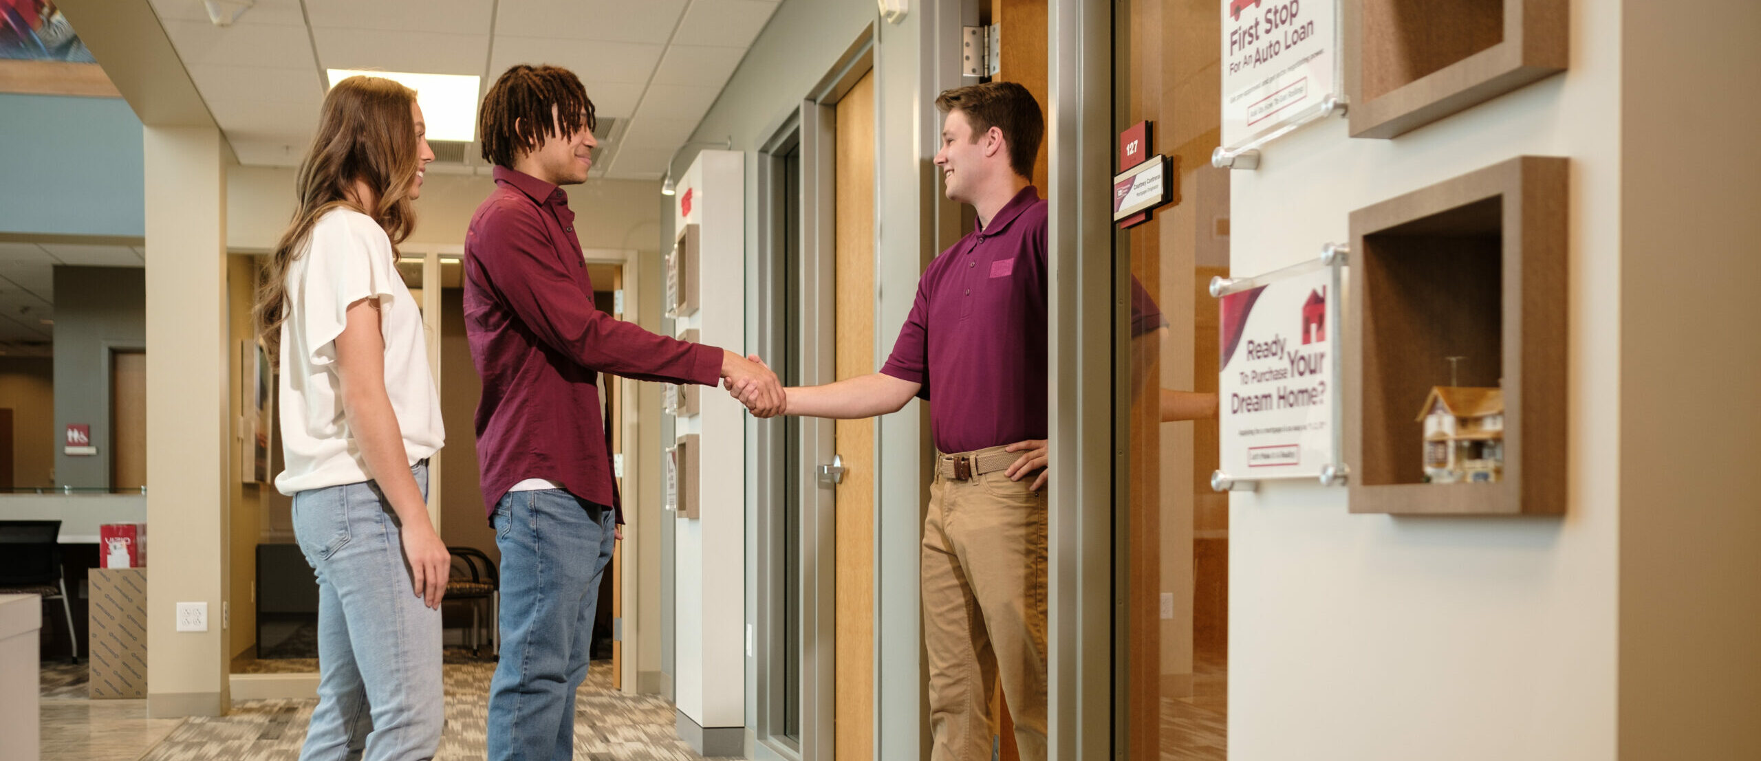
[[[1046,201],[1021,188],[990,222],[944,250],[880,368],[921,384],[930,435],[944,453],[1046,437]],[[1131,280],[1132,336],[1164,328]]]

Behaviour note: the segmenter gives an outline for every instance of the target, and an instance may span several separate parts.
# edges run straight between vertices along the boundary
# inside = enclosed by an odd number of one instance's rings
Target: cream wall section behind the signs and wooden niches
[[[1620,39],[1618,7],[1573,2],[1569,72],[1393,141],[1310,125],[1233,173],[1240,277],[1344,243],[1356,208],[1569,157],[1571,284],[1564,518],[1347,514],[1345,490],[1308,483],[1231,497],[1231,759],[1615,757]]]

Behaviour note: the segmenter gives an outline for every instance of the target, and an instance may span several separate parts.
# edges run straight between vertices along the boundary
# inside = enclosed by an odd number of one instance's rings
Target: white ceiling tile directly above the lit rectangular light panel
[[[313,28],[324,69],[379,69],[419,74],[483,76],[490,30],[481,33]]]

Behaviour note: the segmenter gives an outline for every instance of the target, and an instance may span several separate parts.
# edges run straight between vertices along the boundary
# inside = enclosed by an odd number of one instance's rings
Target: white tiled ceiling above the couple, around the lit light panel
[[[488,90],[514,63],[553,63],[620,123],[593,174],[659,180],[780,0],[257,0],[231,26],[203,0],[150,2],[243,164],[299,162],[324,69],[475,74]],[[486,171],[475,143],[456,171]]]

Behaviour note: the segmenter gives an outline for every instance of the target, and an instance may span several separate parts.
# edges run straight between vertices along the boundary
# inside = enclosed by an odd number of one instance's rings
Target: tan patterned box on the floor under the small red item
[[[92,569],[92,699],[146,698],[146,569]]]

